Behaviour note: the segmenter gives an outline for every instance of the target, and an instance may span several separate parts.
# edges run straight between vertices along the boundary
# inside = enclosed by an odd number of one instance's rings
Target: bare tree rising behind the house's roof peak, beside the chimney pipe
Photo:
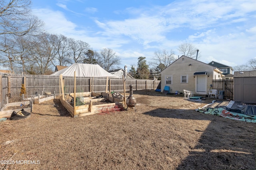
[[[197,55],[197,48],[192,43],[182,43],[179,45],[178,51],[180,51],[182,55],[193,59],[195,59]],[[200,53],[198,53],[197,58],[200,58]]]

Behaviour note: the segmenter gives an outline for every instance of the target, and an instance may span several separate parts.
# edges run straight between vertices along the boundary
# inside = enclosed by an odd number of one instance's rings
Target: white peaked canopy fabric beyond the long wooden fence
[[[72,76],[74,77],[74,71],[76,71],[76,77],[111,77],[111,78],[118,78],[118,76],[114,76],[104,70],[98,64],[81,64],[81,63],[74,63],[67,68],[54,72],[53,76]]]

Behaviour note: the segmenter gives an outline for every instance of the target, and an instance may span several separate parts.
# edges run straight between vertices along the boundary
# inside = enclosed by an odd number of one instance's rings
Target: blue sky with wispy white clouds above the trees
[[[44,30],[113,49],[120,68],[147,63],[155,51],[192,43],[204,63],[228,66],[256,58],[255,0],[32,0]]]

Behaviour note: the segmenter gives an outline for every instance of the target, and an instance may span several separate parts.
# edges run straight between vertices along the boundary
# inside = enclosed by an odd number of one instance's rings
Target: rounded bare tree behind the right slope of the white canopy
[[[103,48],[100,50],[100,56],[103,60],[102,66],[107,71],[120,64],[120,57],[112,49]]]

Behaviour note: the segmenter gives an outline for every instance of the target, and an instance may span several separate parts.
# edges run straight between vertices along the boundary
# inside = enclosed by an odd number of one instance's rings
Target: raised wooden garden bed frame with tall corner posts
[[[108,77],[107,77],[108,79]],[[65,93],[64,93],[64,81],[63,81],[63,76],[62,74],[60,75],[60,101],[62,105],[69,111],[70,115],[72,117],[81,117],[81,116],[86,116],[86,115],[92,115],[95,113],[107,113],[110,111],[114,110],[119,110],[120,108],[117,107],[116,102],[121,102],[124,104],[124,107],[126,106],[126,101],[125,101],[125,84],[124,84],[124,98],[120,99],[120,95],[116,94],[115,96],[112,94],[110,96],[107,93],[107,86],[108,86],[108,81],[106,81],[106,93],[95,93],[95,92],[83,92],[83,93],[78,93],[76,94],[76,72],[74,72],[74,93],[70,93],[69,95],[74,98],[74,106],[72,106],[69,102],[67,102]],[[123,78],[124,82],[124,78]],[[92,96],[100,96],[102,95],[103,98],[96,98],[92,99]],[[90,104],[87,105],[82,105],[82,106],[76,106],[76,98],[77,97],[83,97],[82,102],[90,102]],[[99,104],[99,105],[93,105],[93,102],[99,102],[100,100],[108,100],[113,103],[109,104]]]

